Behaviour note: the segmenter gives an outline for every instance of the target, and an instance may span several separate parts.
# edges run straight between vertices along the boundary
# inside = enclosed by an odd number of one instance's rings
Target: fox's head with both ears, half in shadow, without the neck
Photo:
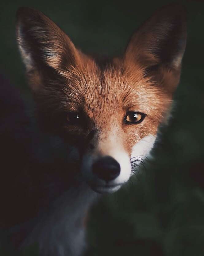
[[[37,10],[19,8],[16,31],[41,124],[75,147],[92,189],[116,191],[168,119],[186,46],[183,7],[158,10],[107,61],[77,50]]]

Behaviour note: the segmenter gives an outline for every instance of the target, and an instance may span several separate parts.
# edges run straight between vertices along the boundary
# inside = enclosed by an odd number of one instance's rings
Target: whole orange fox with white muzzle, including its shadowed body
[[[12,181],[17,199],[4,207],[15,205],[6,217],[19,216],[10,221],[10,239],[17,250],[37,243],[40,256],[83,255],[91,205],[129,181],[168,124],[186,47],[186,11],[179,4],[161,7],[121,56],[110,58],[83,53],[38,10],[20,7],[16,17],[39,134],[30,132],[34,146]],[[42,141],[53,150],[49,164],[39,160],[47,150]]]

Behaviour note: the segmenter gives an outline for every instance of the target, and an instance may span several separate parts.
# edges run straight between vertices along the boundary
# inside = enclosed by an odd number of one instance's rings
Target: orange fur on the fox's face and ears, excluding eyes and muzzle
[[[159,65],[161,59],[150,51],[152,47],[160,47],[160,41],[174,25],[170,13],[176,10],[175,6],[166,10],[166,16],[164,10],[160,10],[140,27],[122,58],[114,58],[101,68],[94,58],[76,50],[68,36],[44,14],[29,9],[28,15],[26,8],[20,9],[18,42],[24,48],[21,51],[24,58],[28,52],[32,55],[28,77],[39,113],[47,115],[47,118],[45,115],[42,117],[43,123],[49,120],[48,126],[56,129],[58,120],[55,116],[60,116],[61,112],[83,112],[84,127],[65,125],[58,127],[60,132],[65,136],[79,135],[86,140],[92,129],[107,131],[115,126],[129,154],[141,138],[155,135],[170,107],[172,92],[180,76],[180,63],[175,65],[172,61],[169,67],[167,63]],[[176,10],[176,19],[180,10]],[[157,25],[156,22],[164,23]],[[26,26],[32,27],[29,33],[23,31],[28,29]],[[180,31],[182,39],[185,39],[184,22]],[[31,46],[27,45],[26,37],[30,39]],[[32,40],[36,44],[33,49]],[[177,59],[179,56],[181,59],[184,48],[185,43]],[[156,71],[148,73],[146,68],[155,65],[159,65]],[[127,111],[142,112],[146,118],[137,127],[125,126],[123,118]]]

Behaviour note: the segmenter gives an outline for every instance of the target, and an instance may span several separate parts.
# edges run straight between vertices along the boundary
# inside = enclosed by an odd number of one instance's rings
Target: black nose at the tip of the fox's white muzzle
[[[119,163],[111,156],[104,156],[93,164],[93,173],[101,180],[112,181],[120,171]]]

